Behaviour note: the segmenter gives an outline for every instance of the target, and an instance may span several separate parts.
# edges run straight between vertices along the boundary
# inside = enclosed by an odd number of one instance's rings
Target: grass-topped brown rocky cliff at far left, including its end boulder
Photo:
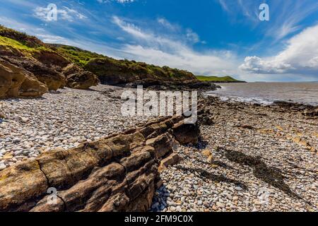
[[[29,78],[31,76],[33,79],[33,83],[25,81],[25,83],[20,84],[23,85],[23,89],[33,90],[33,93],[28,92],[25,95],[27,92],[21,90],[11,92],[9,95],[2,93],[0,97],[40,97],[48,90],[58,90],[64,88],[64,86],[86,89],[99,83],[97,76],[93,73],[84,71],[79,67],[73,67],[71,61],[54,52],[53,49],[36,37],[3,26],[0,26],[0,56],[2,68],[10,65],[11,70],[14,68],[16,71],[23,71],[21,73],[29,75],[24,77]],[[64,71],[69,71],[70,67],[73,68],[72,73],[65,75]],[[1,78],[8,80],[9,77],[6,74],[1,73]],[[16,83],[15,78],[12,79],[6,82],[8,88],[9,83]],[[40,86],[35,85],[35,83],[40,84]],[[1,83],[1,85],[4,84]],[[16,84],[13,85],[17,86]],[[38,88],[35,88],[35,86]],[[18,88],[20,88],[19,85]]]

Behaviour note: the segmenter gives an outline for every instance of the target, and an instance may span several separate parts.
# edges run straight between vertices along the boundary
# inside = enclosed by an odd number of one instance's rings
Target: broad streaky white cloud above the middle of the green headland
[[[122,57],[146,61],[148,64],[171,66],[202,75],[232,75],[237,71],[236,55],[228,51],[196,52],[187,45],[190,31],[192,40],[199,41],[192,30],[188,30],[185,41],[182,37],[156,35],[153,30],[142,30],[114,16],[113,23],[130,35],[136,44],[126,44],[120,49]]]

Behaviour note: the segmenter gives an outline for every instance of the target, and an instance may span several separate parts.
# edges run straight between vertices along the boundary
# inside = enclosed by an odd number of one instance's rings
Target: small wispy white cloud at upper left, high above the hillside
[[[47,18],[47,15],[50,11],[50,8],[45,7],[37,7],[34,10],[34,15],[37,18],[40,18],[40,20],[49,21]],[[58,20],[67,20],[69,22],[73,22],[76,19],[85,19],[86,16],[84,16],[82,13],[79,13],[75,9],[68,8],[66,6],[63,6],[61,9],[57,8],[57,19]]]

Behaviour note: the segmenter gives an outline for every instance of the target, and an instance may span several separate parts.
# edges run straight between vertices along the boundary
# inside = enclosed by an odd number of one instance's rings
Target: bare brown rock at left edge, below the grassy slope
[[[0,98],[40,97],[47,91],[32,73],[0,60]]]

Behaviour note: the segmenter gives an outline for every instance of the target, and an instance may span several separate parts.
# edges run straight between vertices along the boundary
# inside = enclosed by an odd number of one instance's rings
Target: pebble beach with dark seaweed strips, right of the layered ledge
[[[317,211],[317,119],[212,99],[201,142],[177,149],[183,161],[162,173],[153,210]]]

